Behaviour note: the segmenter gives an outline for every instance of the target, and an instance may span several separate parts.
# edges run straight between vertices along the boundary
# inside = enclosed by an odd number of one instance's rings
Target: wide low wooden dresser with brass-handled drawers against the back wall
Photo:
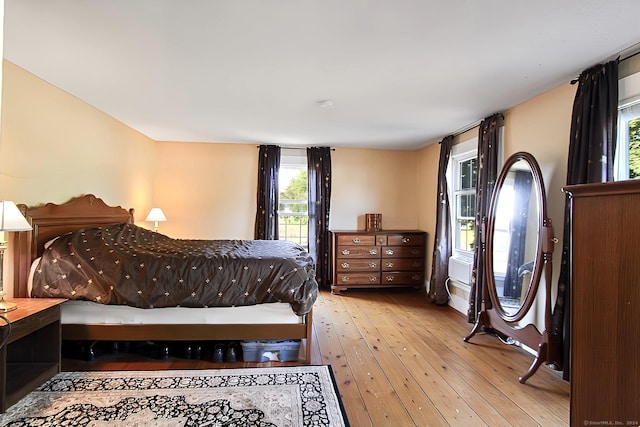
[[[425,287],[427,233],[332,231],[331,293],[348,288]]]

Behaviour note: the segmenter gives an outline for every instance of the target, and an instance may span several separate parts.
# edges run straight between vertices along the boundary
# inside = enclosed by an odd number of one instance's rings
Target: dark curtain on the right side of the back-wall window
[[[309,181],[309,253],[316,262],[316,280],[321,287],[330,286],[331,237],[329,211],[331,205],[331,149],[307,148]]]

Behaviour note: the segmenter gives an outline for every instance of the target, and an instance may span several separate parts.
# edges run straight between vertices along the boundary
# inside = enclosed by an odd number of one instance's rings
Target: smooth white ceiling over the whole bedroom
[[[636,49],[639,17],[638,0],[5,0],[4,57],[158,141],[416,149]]]

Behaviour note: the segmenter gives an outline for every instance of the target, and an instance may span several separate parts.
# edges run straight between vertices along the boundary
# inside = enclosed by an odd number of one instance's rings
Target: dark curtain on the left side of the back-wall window
[[[258,206],[255,239],[278,239],[278,172],[280,147],[261,145],[258,153]]]

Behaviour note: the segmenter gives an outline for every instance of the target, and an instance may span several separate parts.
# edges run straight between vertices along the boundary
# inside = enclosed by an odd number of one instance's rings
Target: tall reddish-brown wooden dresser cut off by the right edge
[[[571,196],[571,425],[640,423],[640,181]]]

